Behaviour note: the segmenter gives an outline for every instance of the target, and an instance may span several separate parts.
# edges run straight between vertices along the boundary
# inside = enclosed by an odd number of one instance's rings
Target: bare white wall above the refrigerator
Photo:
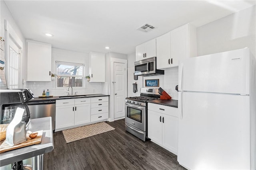
[[[252,6],[198,27],[198,56],[249,47],[255,57],[255,8]]]

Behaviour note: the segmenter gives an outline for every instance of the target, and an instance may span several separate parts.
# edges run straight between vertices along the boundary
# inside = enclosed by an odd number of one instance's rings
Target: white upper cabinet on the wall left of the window
[[[51,81],[52,45],[26,40],[27,81]]]

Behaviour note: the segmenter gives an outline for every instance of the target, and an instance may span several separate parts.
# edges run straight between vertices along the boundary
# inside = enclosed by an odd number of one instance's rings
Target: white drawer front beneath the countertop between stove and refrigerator
[[[148,110],[178,117],[178,108],[160,104],[148,103]]]

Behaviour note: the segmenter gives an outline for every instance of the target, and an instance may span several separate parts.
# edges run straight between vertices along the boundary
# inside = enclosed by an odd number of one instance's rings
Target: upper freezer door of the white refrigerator
[[[238,49],[180,63],[179,90],[250,94],[249,49]]]

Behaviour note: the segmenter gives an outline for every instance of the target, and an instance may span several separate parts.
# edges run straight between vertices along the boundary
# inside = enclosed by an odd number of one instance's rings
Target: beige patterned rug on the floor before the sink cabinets
[[[62,133],[64,135],[66,143],[70,143],[70,142],[78,141],[80,139],[84,139],[87,137],[112,131],[114,129],[115,129],[114,127],[108,125],[105,122],[99,122],[91,125],[85,125],[81,127],[67,129],[62,131]]]

